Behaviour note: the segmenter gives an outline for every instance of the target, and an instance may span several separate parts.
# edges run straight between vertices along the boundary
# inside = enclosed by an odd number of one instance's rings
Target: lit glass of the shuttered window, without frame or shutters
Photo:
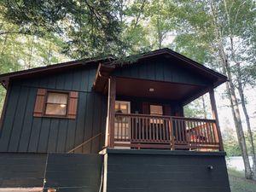
[[[48,92],[45,106],[46,115],[67,115],[67,93]]]

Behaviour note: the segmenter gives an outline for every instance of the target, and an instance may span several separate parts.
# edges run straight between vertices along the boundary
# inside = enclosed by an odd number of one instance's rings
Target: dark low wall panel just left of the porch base
[[[49,154],[44,192],[98,192],[102,182],[102,154]]]

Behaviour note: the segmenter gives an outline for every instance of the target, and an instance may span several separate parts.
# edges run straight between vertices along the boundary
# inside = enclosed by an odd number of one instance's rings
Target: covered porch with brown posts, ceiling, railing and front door
[[[109,77],[107,92],[106,148],[223,151],[213,86]],[[183,106],[207,92],[212,119],[183,117]],[[144,102],[142,110],[131,110],[133,102],[125,102],[131,97],[154,100],[154,108],[164,106],[169,112],[156,108],[156,113],[151,113],[151,105],[145,110]],[[162,101],[174,104],[166,106]]]

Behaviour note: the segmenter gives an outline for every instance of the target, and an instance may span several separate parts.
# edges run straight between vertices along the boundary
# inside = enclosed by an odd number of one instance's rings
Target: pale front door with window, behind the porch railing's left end
[[[115,113],[131,113],[130,102],[116,101]],[[131,136],[131,122],[128,117],[114,119],[114,140],[115,143],[128,144]],[[119,147],[121,148],[121,147]],[[126,147],[125,147],[126,148]]]

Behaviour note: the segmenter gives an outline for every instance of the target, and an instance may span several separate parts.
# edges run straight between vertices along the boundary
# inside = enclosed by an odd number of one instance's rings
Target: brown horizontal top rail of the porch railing
[[[148,117],[148,118],[200,120],[200,121],[207,121],[207,122],[215,122],[215,119],[187,118],[187,117],[177,117],[177,116],[167,116],[167,115],[151,115],[151,114],[138,114],[138,113],[116,113],[116,115],[125,116],[125,117]]]

